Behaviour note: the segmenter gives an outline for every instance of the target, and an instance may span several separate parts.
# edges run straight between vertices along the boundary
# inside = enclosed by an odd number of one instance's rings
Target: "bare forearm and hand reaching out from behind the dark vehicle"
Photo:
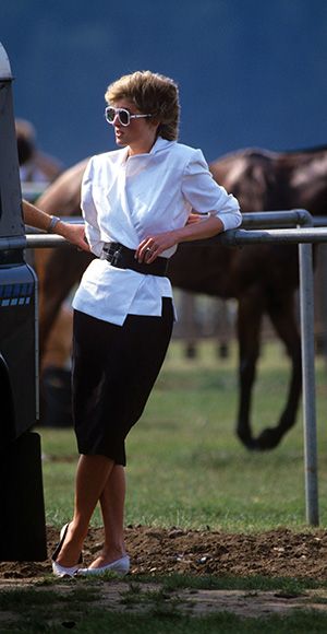
[[[23,200],[23,219],[25,224],[40,228],[47,233],[57,233],[80,249],[89,250],[85,242],[84,224],[69,224],[57,215],[48,215],[27,200]]]

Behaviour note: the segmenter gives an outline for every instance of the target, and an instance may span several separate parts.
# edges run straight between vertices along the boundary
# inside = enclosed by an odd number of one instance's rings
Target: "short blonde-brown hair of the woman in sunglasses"
[[[179,89],[173,80],[149,70],[136,71],[111,83],[105,98],[113,105],[120,99],[132,102],[141,114],[150,114],[159,121],[158,136],[168,141],[178,139]]]

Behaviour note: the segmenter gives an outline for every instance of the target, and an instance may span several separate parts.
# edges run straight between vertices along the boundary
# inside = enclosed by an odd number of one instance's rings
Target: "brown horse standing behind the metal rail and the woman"
[[[64,173],[37,204],[48,213],[81,213],[80,186],[85,162]],[[313,214],[326,212],[327,148],[274,153],[243,150],[210,165],[214,178],[240,201],[243,212],[302,208]],[[40,278],[41,343],[72,285],[89,257],[72,249],[37,254]],[[47,262],[45,262],[45,258]],[[180,245],[171,259],[173,285],[219,297],[235,297],[239,304],[240,403],[237,433],[249,448],[278,445],[296,418],[301,396],[301,347],[294,309],[299,284],[295,246],[255,245],[243,249],[225,246]],[[286,345],[291,361],[291,380],[278,424],[257,438],[251,428],[251,397],[259,355],[263,316],[267,314]]]

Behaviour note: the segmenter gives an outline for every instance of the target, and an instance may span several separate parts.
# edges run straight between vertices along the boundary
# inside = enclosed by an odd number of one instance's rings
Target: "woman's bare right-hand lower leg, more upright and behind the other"
[[[105,566],[124,556],[124,501],[125,470],[121,465],[114,465],[100,495],[105,543],[100,555],[92,563],[90,568]]]

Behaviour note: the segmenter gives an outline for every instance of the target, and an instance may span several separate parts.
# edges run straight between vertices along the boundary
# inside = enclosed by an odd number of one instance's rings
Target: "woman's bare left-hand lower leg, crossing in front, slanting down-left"
[[[62,566],[74,566],[80,559],[89,520],[114,467],[106,456],[81,456],[75,483],[74,516],[57,557]]]

